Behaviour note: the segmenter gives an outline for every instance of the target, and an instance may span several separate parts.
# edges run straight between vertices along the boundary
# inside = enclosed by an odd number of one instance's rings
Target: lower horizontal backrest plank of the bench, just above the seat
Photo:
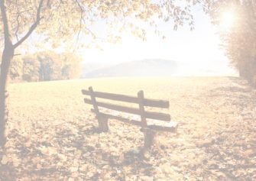
[[[84,99],[87,104],[93,105],[90,99]],[[109,108],[118,112],[126,112],[134,115],[141,115],[138,108],[128,108],[122,105],[113,105],[105,102],[97,102],[97,105],[102,108]],[[170,121],[170,115],[160,112],[144,112],[146,118],[157,119],[160,121]]]

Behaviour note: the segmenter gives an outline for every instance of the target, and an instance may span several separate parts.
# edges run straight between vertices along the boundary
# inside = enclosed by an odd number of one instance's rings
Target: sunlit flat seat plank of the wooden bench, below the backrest
[[[95,112],[95,111],[92,109],[92,112]],[[122,117],[119,117],[119,116],[116,116],[116,115],[109,115],[109,114],[105,114],[105,113],[99,113],[99,115],[104,116],[106,118],[122,121],[124,123],[133,124],[133,125],[136,125],[136,126],[139,126],[139,127],[142,127],[142,128],[150,128],[150,129],[155,130],[155,131],[176,132],[177,127],[178,127],[178,124],[176,122],[173,123],[173,124],[170,124],[170,126],[160,126],[160,125],[144,126],[141,121],[135,121],[135,120],[132,120],[132,119],[122,118]]]

